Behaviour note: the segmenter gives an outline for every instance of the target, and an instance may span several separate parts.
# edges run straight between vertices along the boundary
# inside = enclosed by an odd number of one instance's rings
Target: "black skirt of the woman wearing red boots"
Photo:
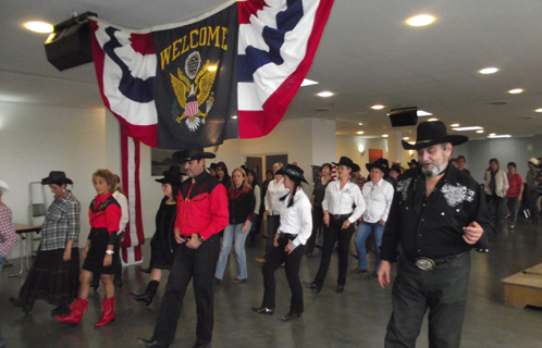
[[[119,253],[113,253],[111,265],[103,266],[103,258],[108,249],[109,233],[106,228],[93,228],[90,231],[90,247],[83,262],[83,270],[98,274],[114,274],[119,269]]]

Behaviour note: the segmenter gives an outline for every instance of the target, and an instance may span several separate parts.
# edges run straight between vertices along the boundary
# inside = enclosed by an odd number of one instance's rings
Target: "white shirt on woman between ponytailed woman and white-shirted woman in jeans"
[[[348,221],[350,223],[361,216],[366,210],[365,199],[361,196],[359,186],[347,182],[343,189],[340,189],[341,182],[331,182],[325,188],[325,196],[322,201],[323,211],[328,211],[333,215],[350,214]],[[353,208],[355,207],[355,208]]]

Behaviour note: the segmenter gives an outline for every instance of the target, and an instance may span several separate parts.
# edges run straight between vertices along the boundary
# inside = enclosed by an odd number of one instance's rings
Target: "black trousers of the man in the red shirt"
[[[217,268],[217,246],[220,248],[218,235],[213,235],[195,250],[187,248],[186,244],[178,246],[158,312],[152,339],[158,339],[168,346],[173,343],[186,288],[193,279],[197,307],[197,341],[211,340],[213,327],[212,279]]]

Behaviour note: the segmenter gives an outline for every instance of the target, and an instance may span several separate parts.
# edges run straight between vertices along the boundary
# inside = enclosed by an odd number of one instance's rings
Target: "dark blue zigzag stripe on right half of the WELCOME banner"
[[[281,55],[281,47],[284,45],[284,36],[299,23],[303,17],[303,1],[287,0],[286,11],[276,14],[276,29],[266,26],[262,37],[269,46],[269,52],[248,46],[245,49],[246,54],[239,54],[237,80],[239,83],[254,82],[254,73],[261,66],[274,63],[281,65],[284,59]]]

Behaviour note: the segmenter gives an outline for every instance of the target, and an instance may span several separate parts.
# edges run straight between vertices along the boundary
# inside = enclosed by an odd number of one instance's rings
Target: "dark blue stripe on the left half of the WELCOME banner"
[[[128,66],[114,52],[115,48],[122,47],[121,42],[114,36],[114,32],[118,30],[113,27],[106,28],[106,34],[110,37],[110,40],[103,45],[103,51],[122,71],[119,90],[133,101],[149,102],[155,100],[155,77],[141,79],[132,76]]]

